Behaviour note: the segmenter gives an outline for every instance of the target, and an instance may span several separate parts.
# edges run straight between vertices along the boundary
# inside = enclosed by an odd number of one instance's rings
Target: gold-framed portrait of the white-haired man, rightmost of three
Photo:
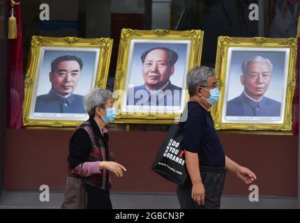
[[[216,129],[292,130],[296,47],[296,38],[218,38]]]

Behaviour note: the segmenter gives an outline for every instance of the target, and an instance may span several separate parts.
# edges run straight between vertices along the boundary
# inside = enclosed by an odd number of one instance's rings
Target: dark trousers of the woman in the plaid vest
[[[86,184],[87,209],[112,209],[110,191]]]

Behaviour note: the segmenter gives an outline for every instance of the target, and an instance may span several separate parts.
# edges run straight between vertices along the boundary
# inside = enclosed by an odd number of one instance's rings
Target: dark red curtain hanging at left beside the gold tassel
[[[12,6],[8,1],[8,15]],[[8,77],[7,77],[7,105],[6,127],[22,128],[24,75],[22,49],[22,15],[20,4],[14,6],[17,20],[17,38],[8,40]]]

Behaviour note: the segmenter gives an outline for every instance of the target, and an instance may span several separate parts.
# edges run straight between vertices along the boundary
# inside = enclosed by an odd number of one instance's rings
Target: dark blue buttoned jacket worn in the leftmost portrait
[[[45,95],[36,97],[34,112],[86,114],[83,96],[71,94],[68,98],[61,97],[53,89]]]

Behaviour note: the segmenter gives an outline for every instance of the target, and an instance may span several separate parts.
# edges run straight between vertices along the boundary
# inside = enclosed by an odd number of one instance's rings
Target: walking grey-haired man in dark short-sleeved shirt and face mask
[[[230,160],[223,151],[218,132],[209,112],[218,101],[218,83],[213,68],[197,66],[186,80],[190,100],[188,117],[183,125],[188,179],[177,187],[181,208],[220,208],[226,169],[233,171],[246,184],[255,174]]]

